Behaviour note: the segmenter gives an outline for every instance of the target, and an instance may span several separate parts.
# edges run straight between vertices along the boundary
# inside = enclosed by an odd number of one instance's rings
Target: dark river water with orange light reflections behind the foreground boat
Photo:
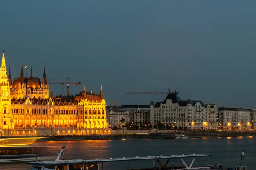
[[[130,139],[130,140],[91,140],[67,141],[64,159],[119,158],[154,155],[210,154],[210,157],[196,158],[196,164],[223,164],[235,167],[240,164],[240,155],[244,148],[242,165],[253,170],[256,163],[256,137],[227,138],[192,138],[192,139]],[[57,142],[35,142],[35,147],[45,146],[42,153],[56,156],[64,144]],[[190,164],[192,159],[185,159]],[[169,165],[182,165],[180,159],[169,161]],[[254,168],[253,168],[254,165]],[[126,162],[106,163],[104,170],[127,169]],[[152,161],[129,162],[129,168],[153,167]],[[22,163],[0,164],[0,170],[29,170],[30,166]]]

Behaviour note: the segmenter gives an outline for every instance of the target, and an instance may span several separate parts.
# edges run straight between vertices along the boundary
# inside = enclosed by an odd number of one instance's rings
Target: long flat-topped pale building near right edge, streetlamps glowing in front
[[[242,108],[218,108],[221,130],[248,130],[251,128],[251,113]]]

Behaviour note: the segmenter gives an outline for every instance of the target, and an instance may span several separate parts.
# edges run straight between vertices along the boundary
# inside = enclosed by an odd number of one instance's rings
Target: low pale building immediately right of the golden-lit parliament
[[[121,122],[128,125],[130,121],[130,112],[129,111],[119,111],[119,110],[111,110],[109,111],[109,125],[111,128],[116,126],[117,128],[121,128]]]

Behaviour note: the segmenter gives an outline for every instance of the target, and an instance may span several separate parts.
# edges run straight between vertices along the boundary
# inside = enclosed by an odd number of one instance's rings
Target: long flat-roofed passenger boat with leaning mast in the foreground
[[[109,159],[74,159],[74,160],[64,160],[60,159],[61,155],[64,155],[64,148],[66,143],[61,148],[61,151],[57,154],[57,158],[55,161],[40,161],[37,157],[36,161],[29,162],[27,164],[31,164],[32,167],[30,170],[99,170],[99,164],[102,164],[103,170],[103,163],[106,162],[118,162],[118,161],[125,161],[127,162],[127,170],[129,169],[129,162],[131,161],[145,161],[145,160],[152,160],[153,167],[152,168],[145,168],[145,170],[213,170],[216,169],[216,166],[200,166],[200,167],[192,167],[195,158],[197,157],[205,157],[211,155],[204,155],[204,154],[191,154],[191,155],[170,155],[170,156],[148,156],[148,157],[133,157],[133,158],[109,158]],[[191,164],[187,165],[184,158],[193,158]],[[161,162],[166,160],[166,163],[163,165]],[[181,159],[184,166],[179,167],[166,167],[167,163],[170,159]],[[154,163],[155,162],[155,163]],[[141,169],[137,169],[141,170]]]

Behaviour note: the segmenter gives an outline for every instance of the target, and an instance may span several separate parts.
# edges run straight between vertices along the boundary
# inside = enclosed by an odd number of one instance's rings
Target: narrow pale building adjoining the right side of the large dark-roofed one
[[[203,102],[205,107],[205,119],[204,129],[205,130],[218,130],[218,108],[216,104],[209,104],[208,102]]]

